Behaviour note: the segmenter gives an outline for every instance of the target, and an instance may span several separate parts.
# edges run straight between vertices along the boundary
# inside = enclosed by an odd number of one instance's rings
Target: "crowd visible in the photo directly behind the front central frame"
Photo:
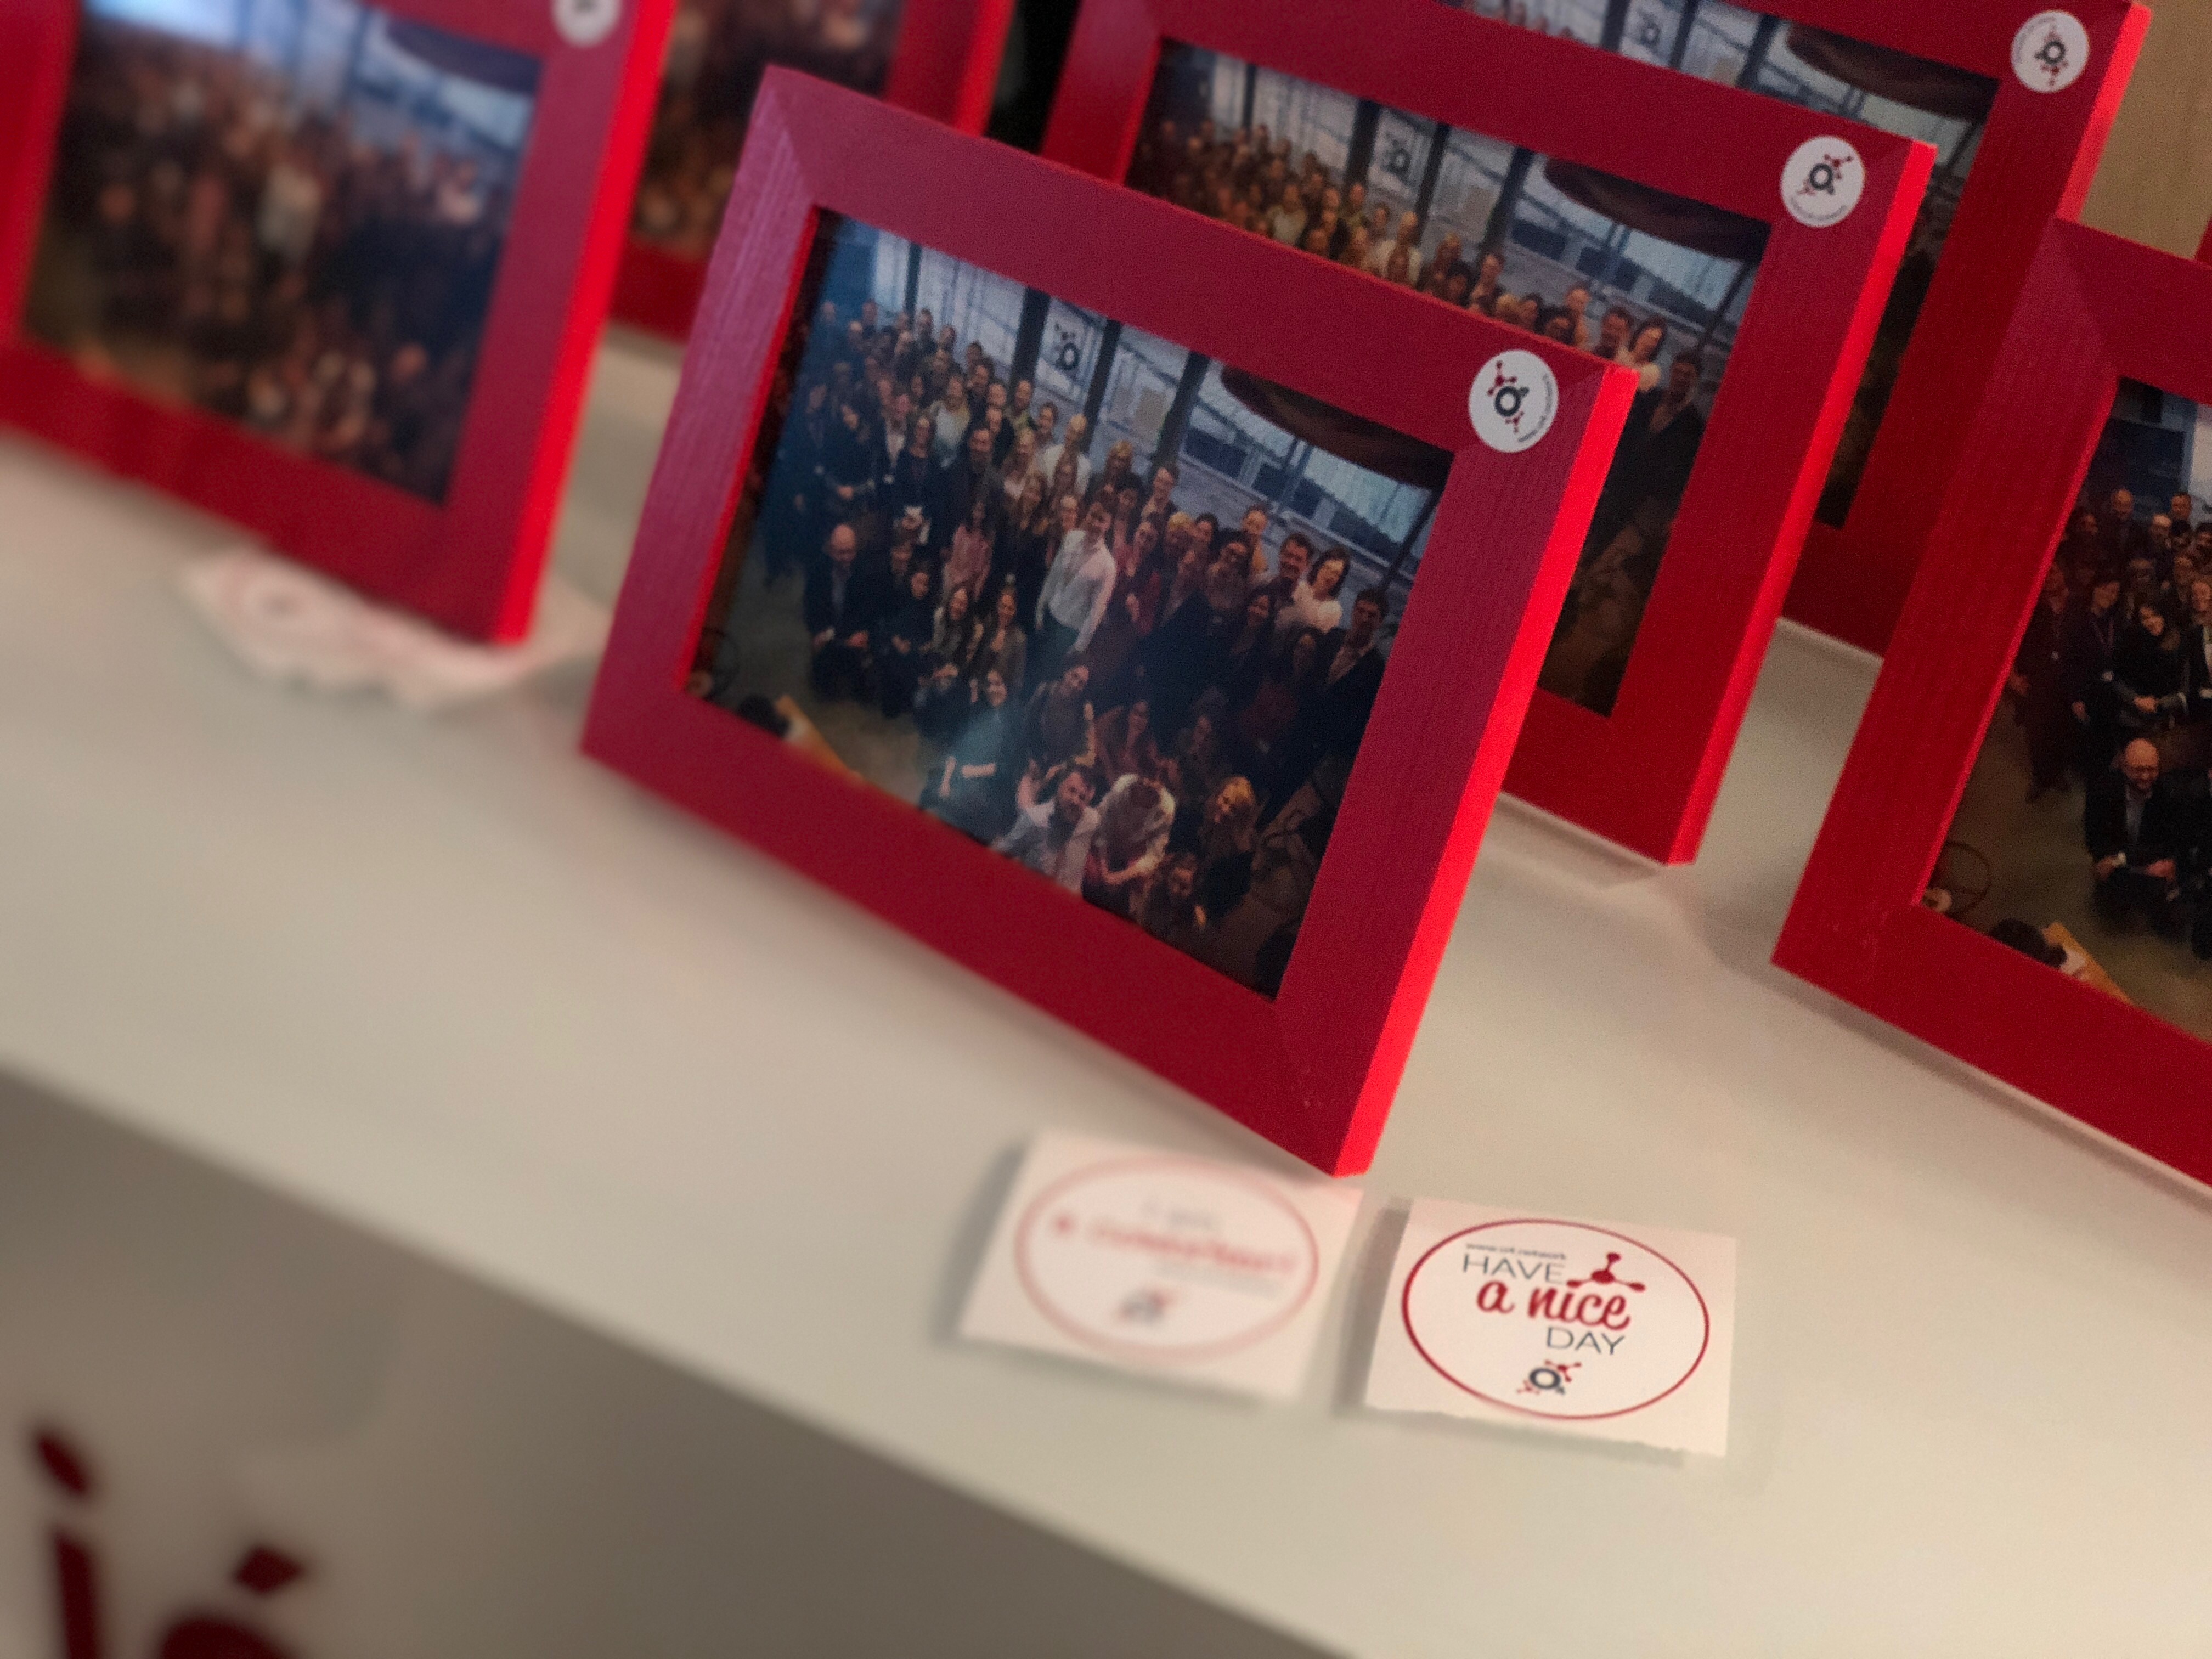
[[[1420,215],[1369,201],[1365,184],[1338,179],[1314,150],[1296,157],[1292,142],[1265,126],[1221,131],[1201,122],[1183,133],[1170,119],[1157,122],[1137,146],[1128,184],[1637,372],[1637,400],[1540,681],[1548,692],[1610,712],[1674,509],[1705,440],[1699,405],[1705,354],[1694,343],[1668,352],[1666,316],[1626,303],[1593,316],[1584,281],[1568,283],[1557,299],[1535,290],[1515,294],[1502,288],[1504,254],[1469,248],[1458,232],[1447,230],[1422,252]]]

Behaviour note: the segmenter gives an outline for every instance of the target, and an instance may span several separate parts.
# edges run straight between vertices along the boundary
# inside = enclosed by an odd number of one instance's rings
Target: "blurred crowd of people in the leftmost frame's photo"
[[[509,208],[476,159],[369,144],[239,51],[86,18],[29,325],[442,500]]]

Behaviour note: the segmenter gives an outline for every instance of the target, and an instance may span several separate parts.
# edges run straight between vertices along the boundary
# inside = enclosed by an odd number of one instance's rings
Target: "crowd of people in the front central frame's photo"
[[[759,480],[816,706],[925,741],[918,805],[1272,993],[1385,664],[1385,593],[1252,502],[1186,511],[1170,456],[1097,447],[922,310],[823,305]],[[737,697],[734,626],[692,690]]]

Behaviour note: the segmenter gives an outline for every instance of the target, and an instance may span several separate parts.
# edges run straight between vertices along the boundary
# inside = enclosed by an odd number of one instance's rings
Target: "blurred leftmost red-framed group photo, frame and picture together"
[[[0,420],[520,637],[668,4],[9,0]]]

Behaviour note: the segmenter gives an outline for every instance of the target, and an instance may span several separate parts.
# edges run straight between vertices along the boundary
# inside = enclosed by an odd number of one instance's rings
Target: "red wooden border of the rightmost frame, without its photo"
[[[1774,962],[2212,1179],[2203,1040],[1920,902],[2121,378],[2212,403],[2212,270],[2053,223]]]

